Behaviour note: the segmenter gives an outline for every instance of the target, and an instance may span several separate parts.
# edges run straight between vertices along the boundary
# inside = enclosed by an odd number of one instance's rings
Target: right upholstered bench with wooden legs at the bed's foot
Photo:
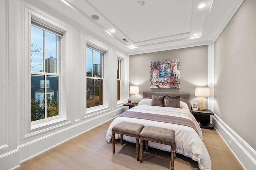
[[[174,170],[174,158],[175,158],[175,131],[172,129],[166,129],[162,127],[145,126],[140,133],[140,162],[142,163],[143,154],[143,140],[146,145],[146,152],[148,152],[148,141],[161,143],[165,145],[170,145],[171,160],[170,160],[170,170]]]

